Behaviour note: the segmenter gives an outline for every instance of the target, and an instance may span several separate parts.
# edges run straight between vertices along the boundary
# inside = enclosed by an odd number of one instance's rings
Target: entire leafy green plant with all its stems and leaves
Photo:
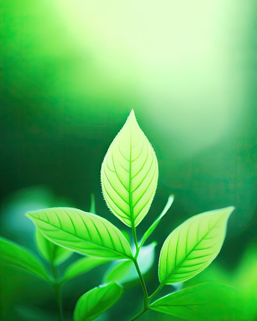
[[[147,215],[157,188],[158,163],[147,137],[137,124],[134,111],[111,143],[102,163],[101,185],[111,212],[129,227],[121,231],[107,219],[75,208],[48,208],[26,215],[36,226],[39,252],[48,260],[52,276],[31,253],[0,239],[0,264],[19,266],[46,279],[56,293],[59,320],[62,320],[60,288],[64,282],[98,265],[115,260],[104,275],[103,284],[83,294],[74,309],[74,321],[93,320],[111,308],[123,292],[122,284],[140,279],[144,299],[142,309],[130,321],[148,310],[155,310],[191,321],[225,321],[229,318],[224,299],[233,288],[224,284],[202,283],[168,294],[155,296],[166,285],[184,282],[203,271],[219,254],[226,235],[227,220],[234,207],[212,210],[188,218],[166,238],[159,255],[159,286],[148,292],[144,274],[154,263],[153,242],[144,246],[173,202],[168,198],[163,212],[137,236],[137,226]],[[64,275],[58,265],[72,252],[85,257],[71,264]],[[225,293],[225,295],[221,295]],[[160,297],[160,295],[159,295]],[[124,316],[124,320],[128,319]]]

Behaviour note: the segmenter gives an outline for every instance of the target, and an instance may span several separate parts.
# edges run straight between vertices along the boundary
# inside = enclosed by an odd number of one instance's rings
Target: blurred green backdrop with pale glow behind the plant
[[[35,250],[25,211],[63,205],[89,210],[90,193],[97,214],[124,228],[105,205],[100,168],[133,108],[160,168],[139,235],[170,193],[174,204],[149,239],[157,240],[156,253],[184,219],[235,206],[221,253],[190,282],[218,279],[239,286],[238,320],[256,320],[255,5],[0,1],[1,235]],[[150,292],[156,266],[157,254],[147,277]],[[65,286],[66,321],[105,269]],[[5,268],[0,280],[1,320],[55,320],[53,294],[43,282]],[[101,319],[127,319],[139,310],[141,297],[135,282]],[[153,319],[171,318],[155,312],[142,317]]]

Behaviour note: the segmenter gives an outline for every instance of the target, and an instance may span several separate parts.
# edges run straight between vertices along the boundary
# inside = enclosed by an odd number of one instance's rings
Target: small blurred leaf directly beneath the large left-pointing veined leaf
[[[75,276],[86,273],[93,268],[110,262],[108,258],[98,258],[93,256],[82,257],[72,263],[65,271],[64,281],[67,281]]]

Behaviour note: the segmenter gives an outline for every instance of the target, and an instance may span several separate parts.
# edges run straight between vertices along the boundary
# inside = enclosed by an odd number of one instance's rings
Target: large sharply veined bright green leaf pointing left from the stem
[[[101,216],[68,207],[26,215],[51,242],[73,252],[112,259],[132,257],[122,232]]]

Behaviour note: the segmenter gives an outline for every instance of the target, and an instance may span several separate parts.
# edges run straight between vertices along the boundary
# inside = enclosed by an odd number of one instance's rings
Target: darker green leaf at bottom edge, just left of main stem
[[[74,321],[90,321],[110,309],[122,295],[116,282],[101,285],[83,294],[76,303]]]

